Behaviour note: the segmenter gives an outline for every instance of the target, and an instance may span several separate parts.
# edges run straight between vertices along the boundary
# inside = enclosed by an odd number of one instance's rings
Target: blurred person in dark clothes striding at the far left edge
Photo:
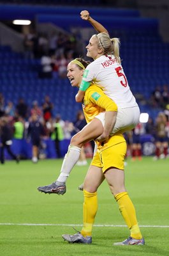
[[[11,150],[12,145],[12,138],[13,132],[11,129],[11,125],[8,121],[8,117],[3,116],[0,118],[0,134],[1,134],[1,143],[0,143],[0,150],[1,150],[1,164],[4,164],[4,149],[8,151],[8,154],[15,159],[15,161],[19,162],[19,157],[14,154]]]

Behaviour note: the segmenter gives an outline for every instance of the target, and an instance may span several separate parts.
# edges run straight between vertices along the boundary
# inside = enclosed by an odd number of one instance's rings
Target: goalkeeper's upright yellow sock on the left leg
[[[84,205],[83,205],[83,228],[80,232],[82,236],[91,236],[92,225],[98,210],[97,192],[90,193],[84,190]]]

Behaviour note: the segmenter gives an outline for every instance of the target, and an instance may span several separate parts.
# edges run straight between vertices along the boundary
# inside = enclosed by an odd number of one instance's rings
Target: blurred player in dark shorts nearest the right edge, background
[[[167,118],[163,112],[156,118],[156,156],[154,160],[165,158],[168,155],[168,136],[167,136]]]

